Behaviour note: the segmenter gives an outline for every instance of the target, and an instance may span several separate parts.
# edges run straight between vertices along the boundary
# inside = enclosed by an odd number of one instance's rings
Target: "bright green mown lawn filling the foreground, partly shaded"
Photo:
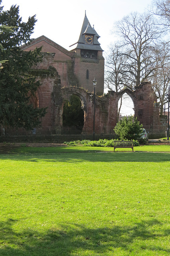
[[[1,154],[0,256],[169,256],[170,146],[134,150]]]

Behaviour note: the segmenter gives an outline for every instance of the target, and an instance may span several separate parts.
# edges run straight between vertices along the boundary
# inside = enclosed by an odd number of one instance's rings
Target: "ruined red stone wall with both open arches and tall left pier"
[[[39,108],[47,107],[47,114],[42,118],[42,126],[63,125],[63,98],[65,95],[76,95],[82,102],[84,110],[84,126],[93,126],[93,94],[79,88],[61,88],[60,77],[57,70],[51,66],[54,54],[46,53],[43,62],[32,73],[41,81],[37,90],[37,102]],[[48,69],[44,69],[45,66]],[[117,123],[117,106],[120,97],[127,93],[134,104],[135,116],[141,124],[160,124],[159,108],[155,103],[156,96],[150,83],[142,83],[135,91],[124,88],[120,92],[109,91],[106,95],[96,95],[95,124],[96,126],[115,126]],[[36,98],[33,100],[36,101]],[[37,104],[35,102],[35,104]],[[156,122],[156,123],[155,123]]]

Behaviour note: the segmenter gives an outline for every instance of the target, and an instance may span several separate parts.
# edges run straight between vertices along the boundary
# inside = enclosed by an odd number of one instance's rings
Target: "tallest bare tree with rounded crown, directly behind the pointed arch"
[[[138,86],[153,76],[152,52],[159,42],[162,31],[151,14],[137,12],[116,22],[115,31],[122,38],[122,58],[126,57],[122,72],[131,86]]]

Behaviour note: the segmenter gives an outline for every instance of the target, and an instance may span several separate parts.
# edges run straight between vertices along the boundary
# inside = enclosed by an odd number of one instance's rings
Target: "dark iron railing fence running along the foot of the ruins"
[[[149,140],[166,140],[166,127],[164,126],[144,126],[148,132]],[[92,140],[93,126],[47,126],[36,127],[32,130],[24,128],[0,127],[0,142],[56,142],[73,140]],[[95,140],[115,139],[114,126],[96,126]]]

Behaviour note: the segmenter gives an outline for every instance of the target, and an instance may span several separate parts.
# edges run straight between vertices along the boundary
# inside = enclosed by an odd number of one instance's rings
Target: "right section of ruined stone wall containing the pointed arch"
[[[159,108],[155,104],[157,101],[156,94],[150,82],[143,82],[139,86],[136,86],[133,91],[124,88],[120,92],[109,91],[106,94],[108,100],[108,103],[106,103],[106,108],[108,107],[107,125],[116,125],[118,102],[124,93],[127,93],[131,97],[134,104],[134,115],[141,124],[160,124]]]

